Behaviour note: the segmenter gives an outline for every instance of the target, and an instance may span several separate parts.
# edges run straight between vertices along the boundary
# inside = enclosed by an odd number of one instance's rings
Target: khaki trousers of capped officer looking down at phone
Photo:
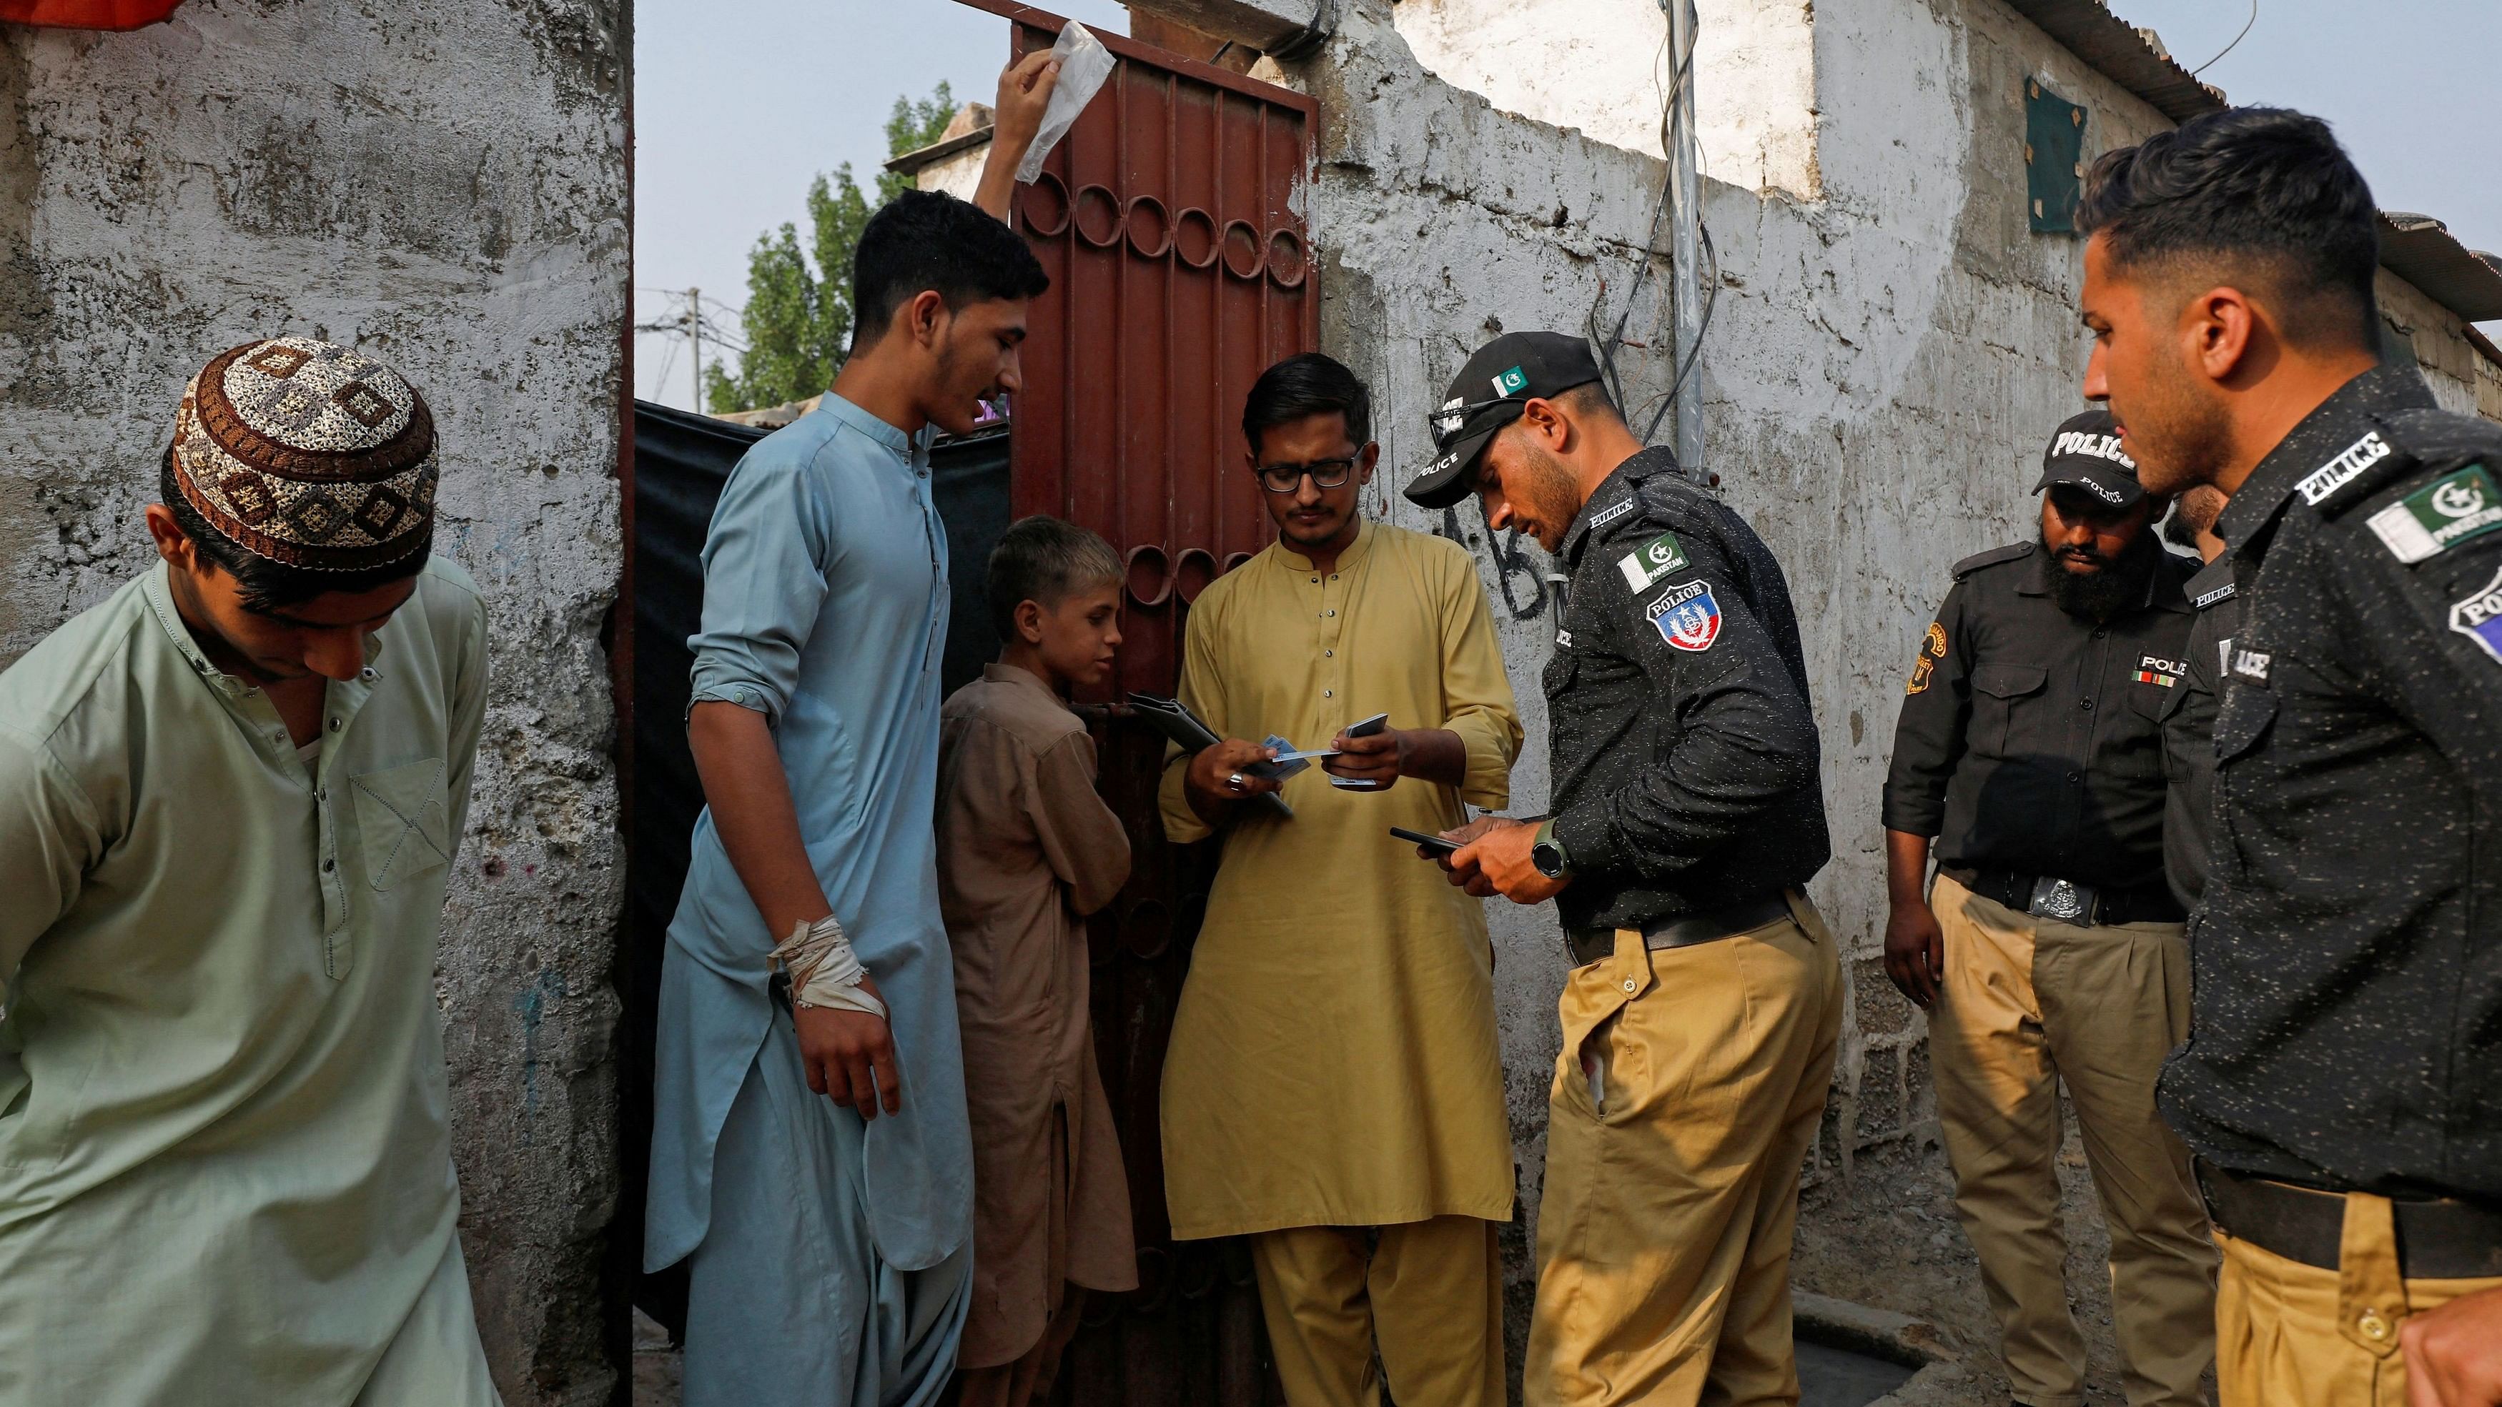
[[[1841,1035],[1824,920],[1574,970],[1546,1112],[1534,1407],[1799,1400],[1789,1245]]]

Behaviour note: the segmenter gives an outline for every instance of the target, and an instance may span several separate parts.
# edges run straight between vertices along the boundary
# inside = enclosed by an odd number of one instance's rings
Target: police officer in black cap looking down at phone
[[[1841,970],[1801,885],[1829,840],[1781,567],[1646,450],[1581,337],[1506,332],[1406,495],[1476,492],[1571,572],[1546,665],[1554,815],[1476,822],[1471,892],[1556,900],[1531,1402],[1794,1400],[1789,1242]]]

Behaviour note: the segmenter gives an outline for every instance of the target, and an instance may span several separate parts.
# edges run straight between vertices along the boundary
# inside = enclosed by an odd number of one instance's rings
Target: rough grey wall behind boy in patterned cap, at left
[[[605,1402],[620,2],[190,0],[0,25],[0,665],[153,562],[183,382],[275,332],[398,365],[493,702],[435,970],[463,1242],[513,1405]]]

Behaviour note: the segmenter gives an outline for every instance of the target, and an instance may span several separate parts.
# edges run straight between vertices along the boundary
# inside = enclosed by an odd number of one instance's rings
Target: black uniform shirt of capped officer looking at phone
[[[1546,665],[1566,930],[1736,905],[1824,867],[1806,660],[1781,565],[1746,522],[1644,450],[1564,535]]]

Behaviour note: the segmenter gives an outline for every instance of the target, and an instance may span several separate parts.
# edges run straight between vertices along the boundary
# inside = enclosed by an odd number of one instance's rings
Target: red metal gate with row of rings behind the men
[[[1011,55],[1058,37],[1056,15],[968,2],[1011,20]],[[1118,67],[1041,177],[1018,187],[1018,227],[1051,292],[1033,302],[1023,345],[1011,495],[1018,515],[1081,522],[1121,550],[1128,600],[1113,687],[1171,695],[1191,600],[1274,540],[1243,467],[1241,405],[1264,367],[1319,342],[1299,195],[1316,107],[1269,82],[1098,37]],[[1116,717],[1098,742],[1103,795],[1136,855],[1091,937],[1096,1057],[1128,1165],[1141,1287],[1088,1315],[1056,1402],[1284,1402],[1243,1247],[1176,1245],[1163,1210],[1156,1095],[1213,847],[1163,840],[1161,735]]]

